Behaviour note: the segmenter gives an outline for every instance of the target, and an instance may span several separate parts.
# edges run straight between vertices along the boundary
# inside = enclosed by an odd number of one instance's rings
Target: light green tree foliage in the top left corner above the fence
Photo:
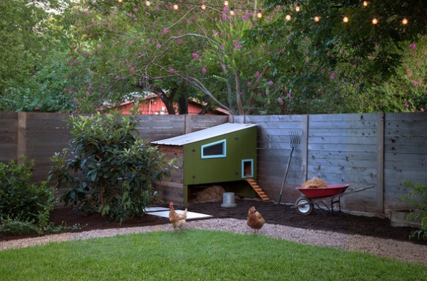
[[[0,110],[28,110],[23,107],[40,99],[43,91],[34,77],[51,60],[49,54],[64,46],[58,12],[66,2],[0,1]]]

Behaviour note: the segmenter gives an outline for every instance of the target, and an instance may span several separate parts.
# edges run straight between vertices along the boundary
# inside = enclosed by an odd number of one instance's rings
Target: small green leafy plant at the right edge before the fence
[[[411,233],[411,238],[418,237],[418,239],[427,240],[427,186],[413,183],[410,180],[404,181],[403,185],[410,190],[402,198],[405,202],[411,203],[411,207],[414,210],[409,214],[408,218],[421,221],[421,229],[414,230]]]

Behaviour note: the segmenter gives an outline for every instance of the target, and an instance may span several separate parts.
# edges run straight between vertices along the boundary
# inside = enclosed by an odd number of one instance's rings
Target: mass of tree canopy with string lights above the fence
[[[12,90],[0,110],[93,112],[137,92],[156,93],[169,114],[175,102],[186,113],[190,96],[238,115],[423,110],[423,2],[71,1],[60,20],[30,28],[43,48],[60,31],[67,48],[43,65],[23,59],[26,83],[2,70]]]

